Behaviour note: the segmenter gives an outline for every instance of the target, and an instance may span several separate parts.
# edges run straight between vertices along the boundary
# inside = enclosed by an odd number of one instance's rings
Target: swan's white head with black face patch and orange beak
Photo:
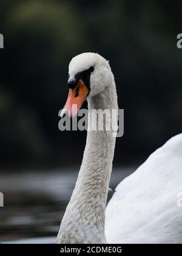
[[[66,112],[76,116],[83,102],[104,91],[112,78],[109,62],[101,55],[87,52],[74,57],[69,65],[69,96],[61,116]]]

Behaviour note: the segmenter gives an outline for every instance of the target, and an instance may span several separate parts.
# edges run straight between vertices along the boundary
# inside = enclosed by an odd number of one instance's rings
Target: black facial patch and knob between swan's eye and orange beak
[[[90,91],[90,76],[91,76],[91,73],[93,73],[94,69],[95,69],[94,66],[91,66],[89,69],[77,73],[74,79],[72,80],[69,79],[69,82],[68,82],[69,88],[70,89],[75,88],[76,84],[78,83],[78,80],[81,79],[83,80],[84,85],[86,85],[86,87]]]

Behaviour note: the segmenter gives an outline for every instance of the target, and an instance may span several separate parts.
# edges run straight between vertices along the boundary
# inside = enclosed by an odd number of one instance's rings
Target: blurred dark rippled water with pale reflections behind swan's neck
[[[110,188],[135,168],[115,169]],[[0,175],[4,208],[0,208],[0,240],[56,236],[78,172],[50,171]],[[109,197],[112,193],[109,193]]]

